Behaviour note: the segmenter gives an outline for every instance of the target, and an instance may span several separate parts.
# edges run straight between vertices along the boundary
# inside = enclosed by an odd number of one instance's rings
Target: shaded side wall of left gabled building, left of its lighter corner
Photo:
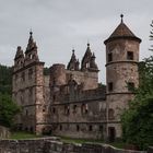
[[[25,67],[13,74],[13,98],[22,107],[22,114],[16,117],[15,123],[22,130],[35,129],[35,75],[34,66]]]

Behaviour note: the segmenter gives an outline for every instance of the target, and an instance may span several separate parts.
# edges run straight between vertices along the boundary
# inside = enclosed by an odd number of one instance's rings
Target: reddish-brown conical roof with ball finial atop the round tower
[[[141,39],[137,37],[130,28],[123,23],[123,15],[120,15],[121,22],[120,24],[116,27],[116,30],[113,32],[113,34],[104,42],[104,44],[111,42],[114,39],[118,38],[129,38],[129,39],[134,39],[138,40],[139,43]]]

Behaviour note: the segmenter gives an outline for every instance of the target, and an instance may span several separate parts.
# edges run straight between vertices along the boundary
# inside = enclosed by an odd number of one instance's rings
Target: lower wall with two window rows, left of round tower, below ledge
[[[103,139],[106,132],[105,101],[84,101],[51,105],[54,134]]]

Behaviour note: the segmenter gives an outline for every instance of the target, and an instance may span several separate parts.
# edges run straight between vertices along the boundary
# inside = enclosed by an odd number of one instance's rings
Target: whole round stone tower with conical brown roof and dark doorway
[[[106,104],[107,138],[114,141],[121,137],[120,114],[134,96],[131,89],[139,85],[139,45],[138,38],[121,22],[104,42],[106,45]]]

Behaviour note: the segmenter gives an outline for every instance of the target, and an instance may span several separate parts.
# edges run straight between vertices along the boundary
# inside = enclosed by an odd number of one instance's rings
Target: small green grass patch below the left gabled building
[[[40,138],[40,136],[36,136],[34,133],[28,133],[28,132],[23,132],[23,131],[17,131],[17,132],[11,132],[10,139],[33,139],[33,138]]]

